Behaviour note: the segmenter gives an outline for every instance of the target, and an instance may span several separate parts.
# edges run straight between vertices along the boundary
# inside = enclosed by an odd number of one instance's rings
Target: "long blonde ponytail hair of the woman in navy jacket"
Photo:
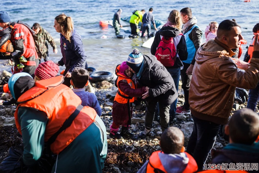
[[[74,22],[72,17],[66,16],[64,13],[55,17],[57,23],[59,23],[61,27],[61,31],[64,33],[64,37],[70,42],[70,37],[74,31]]]

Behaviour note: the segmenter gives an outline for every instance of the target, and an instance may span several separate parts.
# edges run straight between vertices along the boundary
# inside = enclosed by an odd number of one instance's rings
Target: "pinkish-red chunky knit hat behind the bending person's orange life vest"
[[[54,78],[59,72],[59,66],[57,66],[53,61],[47,61],[40,63],[36,68],[34,74],[41,80]]]

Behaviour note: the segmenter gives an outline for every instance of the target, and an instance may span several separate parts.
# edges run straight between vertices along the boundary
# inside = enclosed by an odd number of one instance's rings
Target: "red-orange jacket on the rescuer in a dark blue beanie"
[[[18,21],[19,22],[19,21]],[[15,43],[15,40],[23,39],[24,40],[24,52],[21,56],[24,56],[27,60],[26,63],[22,63],[28,66],[35,66],[36,59],[38,59],[38,54],[35,49],[35,43],[32,37],[30,30],[27,26],[16,23],[12,29],[12,43]]]

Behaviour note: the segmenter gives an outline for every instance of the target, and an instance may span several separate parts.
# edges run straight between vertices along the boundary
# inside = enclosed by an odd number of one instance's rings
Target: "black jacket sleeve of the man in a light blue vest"
[[[193,24],[193,25],[195,25],[195,24]],[[190,25],[186,29],[185,33],[188,32],[193,27],[193,25]],[[183,34],[185,34],[185,33],[183,33]],[[192,58],[192,62],[191,62],[191,64],[194,65],[196,52],[197,52],[198,48],[202,45],[202,30],[200,30],[198,27],[194,28],[192,30],[192,32],[189,34],[189,38],[192,40],[194,47],[195,47],[195,54],[194,54],[194,56]]]

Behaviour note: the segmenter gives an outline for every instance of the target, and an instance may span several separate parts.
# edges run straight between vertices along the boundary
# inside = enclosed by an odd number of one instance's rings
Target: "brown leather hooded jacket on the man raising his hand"
[[[248,70],[237,68],[235,53],[218,40],[199,47],[193,68],[189,104],[193,116],[226,124],[234,103],[236,87],[251,89],[259,81],[259,51],[254,51]]]

